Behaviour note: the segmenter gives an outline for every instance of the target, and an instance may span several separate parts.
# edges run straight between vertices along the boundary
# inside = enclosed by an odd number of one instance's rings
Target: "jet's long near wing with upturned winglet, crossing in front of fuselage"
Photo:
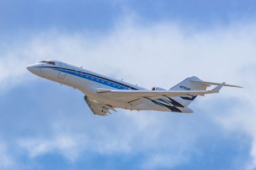
[[[144,103],[148,99],[154,100],[159,98],[168,98],[168,97],[189,97],[192,98],[191,95],[201,95],[210,93],[219,93],[219,90],[225,85],[225,83],[221,83],[217,87],[208,91],[154,91],[154,90],[113,90],[113,89],[97,89],[96,92],[104,97],[108,97],[110,99],[116,99],[119,101],[125,101],[129,99],[131,105],[133,105],[133,100],[136,102],[138,99],[140,103]],[[132,100],[133,99],[133,100]],[[138,105],[140,103],[136,103],[134,105]]]

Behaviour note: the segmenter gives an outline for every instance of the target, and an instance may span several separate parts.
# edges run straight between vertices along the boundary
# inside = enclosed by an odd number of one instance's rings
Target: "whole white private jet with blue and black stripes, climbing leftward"
[[[218,93],[223,86],[239,87],[206,82],[193,76],[169,90],[160,87],[148,90],[82,67],[50,59],[28,65],[26,68],[35,75],[80,90],[84,93],[84,100],[92,113],[100,116],[106,116],[110,110],[116,111],[115,108],[193,113],[188,105],[197,95]],[[210,85],[216,87],[206,90]]]

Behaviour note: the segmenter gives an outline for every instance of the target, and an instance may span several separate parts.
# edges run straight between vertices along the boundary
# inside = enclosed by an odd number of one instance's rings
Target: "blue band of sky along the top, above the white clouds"
[[[176,21],[186,26],[208,28],[234,20],[255,19],[254,1],[173,1],[173,0],[26,0],[1,1],[1,36],[29,35],[49,28],[64,32],[90,30],[106,32],[116,20],[134,13],[140,22]],[[7,34],[7,35],[6,35]]]

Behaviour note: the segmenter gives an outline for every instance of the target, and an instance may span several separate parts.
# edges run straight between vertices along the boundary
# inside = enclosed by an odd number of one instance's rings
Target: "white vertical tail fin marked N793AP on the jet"
[[[192,80],[192,81],[190,81]],[[193,81],[194,80],[194,81]],[[182,82],[180,82],[178,85],[175,85],[174,87],[170,88],[170,90],[177,90],[177,91],[198,91],[198,90],[206,90],[207,87],[210,87],[209,84],[202,84],[198,83],[197,81],[201,81],[198,77],[188,77]],[[191,97],[172,97],[175,101],[183,105],[184,107],[187,107],[195,98],[197,95],[193,95]]]

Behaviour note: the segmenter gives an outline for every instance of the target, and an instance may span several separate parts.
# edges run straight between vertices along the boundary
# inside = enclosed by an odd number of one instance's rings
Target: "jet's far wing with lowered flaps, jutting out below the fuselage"
[[[116,112],[114,107],[104,104],[104,103],[100,103],[99,101],[97,101],[95,99],[91,99],[87,96],[84,96],[84,101],[87,103],[87,105],[91,109],[92,113],[94,113],[94,115],[108,116],[107,113],[110,113],[109,110]]]

